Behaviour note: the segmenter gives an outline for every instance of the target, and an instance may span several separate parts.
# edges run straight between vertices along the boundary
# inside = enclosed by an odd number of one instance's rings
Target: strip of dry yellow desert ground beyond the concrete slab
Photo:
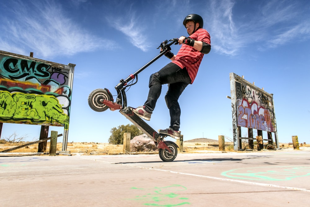
[[[0,142],[0,151],[6,150],[15,146],[20,146],[27,142]],[[183,142],[183,152],[184,153],[199,153],[207,151],[219,151],[219,147],[216,146],[218,144],[217,140],[207,139],[207,138],[197,138],[193,140],[188,140]],[[267,143],[264,143],[267,144]],[[49,152],[50,142],[47,142],[46,152]],[[279,147],[281,148],[292,148],[293,145],[291,143],[279,143]],[[310,144],[299,143],[299,147],[310,147]],[[246,146],[243,147],[246,149]],[[254,145],[254,150],[257,147]],[[62,150],[62,142],[57,143],[57,151]],[[71,154],[81,154],[81,155],[117,155],[123,154],[123,145],[111,145],[109,143],[99,143],[99,142],[68,142],[67,151],[70,151]],[[225,142],[225,151],[234,151],[232,142]],[[246,150],[245,150],[246,151]],[[10,153],[25,153],[25,152],[38,152],[38,144],[29,145],[20,149],[16,149],[14,151],[10,151]],[[132,152],[133,154],[137,154],[137,152]],[[138,152],[138,153],[158,153],[158,151],[151,152]]]

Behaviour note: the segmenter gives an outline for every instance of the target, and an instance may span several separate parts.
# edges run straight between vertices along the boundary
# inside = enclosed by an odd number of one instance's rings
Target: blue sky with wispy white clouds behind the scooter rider
[[[273,94],[278,141],[310,142],[310,2],[308,0],[0,0],[0,50],[76,64],[68,142],[108,142],[113,127],[131,124],[118,111],[95,112],[88,96],[114,87],[158,55],[164,40],[188,36],[183,20],[199,14],[210,33],[211,52],[179,98],[181,134],[232,139],[229,73]],[[177,53],[179,45],[172,45]],[[162,56],[127,92],[128,106],[144,104],[148,81],[169,60]],[[164,96],[157,101],[154,129],[170,125]],[[1,139],[15,133],[38,140],[41,126],[4,123]],[[63,133],[63,127],[49,127]],[[246,128],[241,134],[246,134]],[[254,130],[254,136],[255,136]],[[49,133],[50,134],[50,133]],[[257,134],[256,134],[257,135]],[[274,134],[272,134],[274,139]],[[263,132],[267,138],[267,133]],[[170,138],[167,138],[170,140]],[[174,140],[171,138],[171,140]],[[62,138],[58,138],[62,142]]]

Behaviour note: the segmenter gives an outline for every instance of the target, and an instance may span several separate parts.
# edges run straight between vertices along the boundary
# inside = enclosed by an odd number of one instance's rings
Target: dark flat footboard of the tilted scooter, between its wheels
[[[142,132],[144,132],[148,137],[150,137],[155,143],[160,141],[160,135],[148,124],[145,123],[143,119],[141,119],[138,115],[136,115],[132,110],[128,107],[119,111],[122,115],[124,115],[127,119],[129,119],[136,127],[138,127]]]

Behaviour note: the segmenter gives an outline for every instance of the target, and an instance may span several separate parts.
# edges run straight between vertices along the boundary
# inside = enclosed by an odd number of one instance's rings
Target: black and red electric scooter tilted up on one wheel
[[[120,83],[115,86],[117,91],[116,101],[114,102],[111,92],[107,89],[95,89],[88,96],[88,105],[92,110],[102,112],[107,109],[112,111],[119,110],[119,112],[129,119],[135,126],[137,126],[142,132],[150,137],[156,147],[158,148],[159,157],[164,162],[170,162],[175,160],[178,151],[178,146],[171,141],[165,141],[164,138],[168,135],[157,133],[151,126],[149,126],[143,119],[133,113],[130,107],[127,107],[127,98],[125,89],[138,82],[138,74],[163,56],[167,51],[171,50],[170,46],[178,44],[178,39],[170,39],[163,41],[157,49],[161,48],[161,52],[153,60],[149,61],[142,68],[137,70],[134,74],[129,75],[126,79],[121,79]],[[135,80],[135,83],[133,81]]]

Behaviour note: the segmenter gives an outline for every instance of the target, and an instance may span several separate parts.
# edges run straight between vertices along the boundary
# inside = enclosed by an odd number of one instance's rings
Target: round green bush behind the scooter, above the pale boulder
[[[111,136],[109,137],[108,141],[109,144],[113,145],[123,144],[124,133],[131,133],[130,139],[133,139],[133,137],[143,134],[143,132],[134,124],[127,124],[126,126],[120,125],[117,128],[113,127],[110,133]]]

